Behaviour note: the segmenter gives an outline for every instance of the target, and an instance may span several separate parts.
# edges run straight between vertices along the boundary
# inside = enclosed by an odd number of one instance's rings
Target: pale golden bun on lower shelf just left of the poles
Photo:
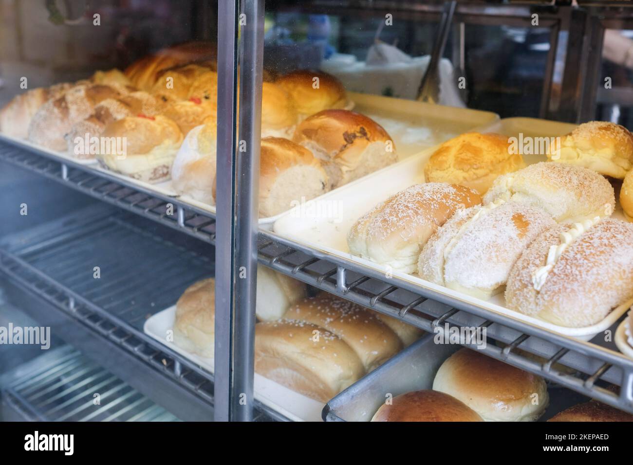
[[[215,280],[189,286],[176,302],[173,342],[182,349],[213,358],[215,354]]]

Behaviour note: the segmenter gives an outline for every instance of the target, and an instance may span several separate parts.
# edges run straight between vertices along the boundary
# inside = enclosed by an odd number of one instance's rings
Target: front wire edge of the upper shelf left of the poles
[[[46,151],[15,146],[0,136],[0,160],[56,180],[83,194],[131,211],[197,239],[215,242],[215,215],[177,197],[145,189],[123,177],[56,158]],[[170,207],[171,206],[171,207]]]

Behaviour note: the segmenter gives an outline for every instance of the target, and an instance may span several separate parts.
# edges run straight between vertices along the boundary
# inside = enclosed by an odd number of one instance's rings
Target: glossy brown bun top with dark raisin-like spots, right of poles
[[[391,140],[391,137],[368,116],[349,110],[329,109],[299,123],[292,140],[298,144],[314,144],[331,158],[335,158],[351,146],[365,147],[371,142]]]

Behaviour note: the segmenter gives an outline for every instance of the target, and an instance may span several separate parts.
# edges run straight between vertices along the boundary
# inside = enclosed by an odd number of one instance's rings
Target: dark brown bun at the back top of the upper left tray
[[[185,42],[135,61],[125,69],[125,75],[132,85],[149,92],[160,71],[187,63],[214,61],[216,56],[217,48],[210,42]]]

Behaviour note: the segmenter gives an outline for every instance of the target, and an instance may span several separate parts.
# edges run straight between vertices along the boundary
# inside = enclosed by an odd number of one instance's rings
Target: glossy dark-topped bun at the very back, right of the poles
[[[322,71],[292,71],[277,79],[275,84],[291,95],[297,111],[304,116],[329,108],[346,108],[349,103],[341,82]]]

